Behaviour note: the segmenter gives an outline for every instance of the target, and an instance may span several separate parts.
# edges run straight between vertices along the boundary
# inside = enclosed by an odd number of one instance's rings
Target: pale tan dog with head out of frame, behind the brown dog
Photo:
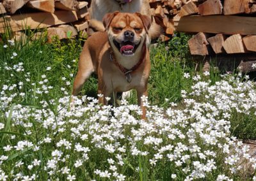
[[[89,27],[93,29],[93,31],[104,31],[102,18],[106,13],[113,13],[114,11],[124,13],[140,12],[142,15],[152,17],[148,0],[92,0],[89,8],[91,17]],[[148,30],[150,39],[158,38],[162,31],[162,27],[156,24],[155,20],[152,19],[152,25]]]

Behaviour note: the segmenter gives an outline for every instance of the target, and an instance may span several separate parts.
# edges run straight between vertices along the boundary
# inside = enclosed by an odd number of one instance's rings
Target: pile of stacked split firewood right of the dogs
[[[173,22],[176,31],[197,33],[188,42],[192,55],[236,57],[241,71],[256,71],[256,1],[188,1]]]

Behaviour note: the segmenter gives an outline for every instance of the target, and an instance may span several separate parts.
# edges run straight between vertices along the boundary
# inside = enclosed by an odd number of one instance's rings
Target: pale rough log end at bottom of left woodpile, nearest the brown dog
[[[47,29],[47,38],[51,42],[53,37],[58,37],[58,39],[74,38],[77,35],[77,31],[71,25],[59,25],[58,27],[49,27]]]

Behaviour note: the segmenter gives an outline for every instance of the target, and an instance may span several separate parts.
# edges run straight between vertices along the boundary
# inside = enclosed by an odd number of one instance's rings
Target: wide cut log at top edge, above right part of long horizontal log
[[[249,0],[225,0],[223,13],[224,15],[250,13]]]

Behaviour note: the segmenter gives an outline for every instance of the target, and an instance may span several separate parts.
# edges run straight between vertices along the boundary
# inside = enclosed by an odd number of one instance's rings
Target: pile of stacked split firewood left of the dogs
[[[86,31],[90,19],[88,1],[77,0],[3,0],[0,16],[0,33],[11,29],[12,38],[20,39],[26,36],[24,29],[47,28],[49,41]]]

